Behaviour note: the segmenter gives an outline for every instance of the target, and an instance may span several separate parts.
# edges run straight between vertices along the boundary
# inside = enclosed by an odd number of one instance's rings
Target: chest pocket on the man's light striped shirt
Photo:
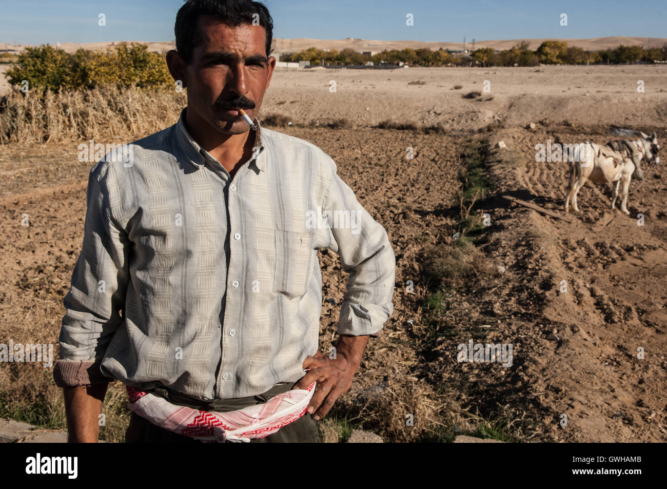
[[[313,257],[313,233],[275,229],[273,292],[293,299],[303,296]]]

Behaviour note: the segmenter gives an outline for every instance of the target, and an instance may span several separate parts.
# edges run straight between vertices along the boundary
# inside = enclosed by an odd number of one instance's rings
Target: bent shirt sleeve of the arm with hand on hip
[[[387,231],[338,176],[335,163],[323,215],[331,237],[327,248],[340,256],[343,270],[350,274],[338,334],[379,338],[394,312],[394,250]]]

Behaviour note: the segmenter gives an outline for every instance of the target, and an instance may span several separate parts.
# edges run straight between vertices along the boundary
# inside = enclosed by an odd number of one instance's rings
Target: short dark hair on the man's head
[[[187,0],[176,14],[173,27],[176,50],[186,63],[192,61],[192,51],[200,40],[197,31],[199,15],[211,15],[230,27],[237,27],[241,24],[252,24],[255,14],[259,16],[259,25],[266,31],[266,56],[269,57],[273,40],[273,19],[263,3],[252,0]]]

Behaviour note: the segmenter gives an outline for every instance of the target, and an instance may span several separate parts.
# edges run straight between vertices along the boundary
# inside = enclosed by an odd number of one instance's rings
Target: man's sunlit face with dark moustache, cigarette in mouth
[[[275,58],[266,57],[266,31],[251,24],[229,27],[201,15],[198,32],[191,62],[175,67],[187,87],[187,110],[214,130],[241,134],[249,126],[230,109],[241,108],[254,119],[275,67]]]

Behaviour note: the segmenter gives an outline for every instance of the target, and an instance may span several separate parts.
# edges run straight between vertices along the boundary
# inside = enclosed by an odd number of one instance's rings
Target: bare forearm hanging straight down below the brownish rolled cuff
[[[99,414],[102,412],[108,386],[108,383],[104,383],[63,388],[67,413],[67,442],[97,442]]]

